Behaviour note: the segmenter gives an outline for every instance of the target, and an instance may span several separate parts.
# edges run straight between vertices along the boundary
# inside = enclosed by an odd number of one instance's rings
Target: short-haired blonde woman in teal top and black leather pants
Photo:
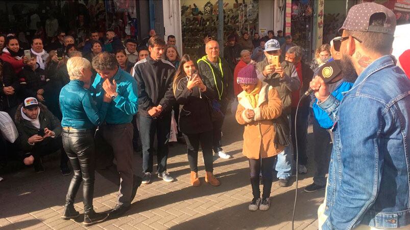
[[[108,215],[95,213],[92,206],[94,193],[94,131],[105,119],[111,98],[104,97],[101,108],[97,108],[90,92],[91,64],[83,57],[71,57],[67,62],[70,82],[60,92],[60,108],[63,147],[74,169],[66,196],[62,219],[80,215],[74,209],[74,199],[83,181],[83,203],[85,226],[104,221]]]

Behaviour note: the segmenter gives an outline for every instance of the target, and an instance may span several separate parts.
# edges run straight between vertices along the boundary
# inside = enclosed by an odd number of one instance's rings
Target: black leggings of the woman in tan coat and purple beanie
[[[249,169],[251,173],[251,185],[252,194],[254,198],[260,197],[259,189],[259,174],[262,169],[262,180],[263,180],[263,194],[262,197],[268,198],[271,195],[272,187],[272,171],[273,163],[275,162],[275,157],[262,158],[262,165],[259,159],[248,159]],[[262,168],[261,168],[262,166]]]

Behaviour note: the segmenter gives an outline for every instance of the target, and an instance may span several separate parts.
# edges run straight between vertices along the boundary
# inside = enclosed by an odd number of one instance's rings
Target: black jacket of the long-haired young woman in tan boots
[[[215,99],[216,93],[206,88],[201,92],[198,87],[188,90],[186,77],[176,82],[175,98],[182,105],[179,112],[179,130],[185,134],[203,133],[212,130],[212,120],[210,108],[206,100]],[[202,98],[201,98],[202,97]]]

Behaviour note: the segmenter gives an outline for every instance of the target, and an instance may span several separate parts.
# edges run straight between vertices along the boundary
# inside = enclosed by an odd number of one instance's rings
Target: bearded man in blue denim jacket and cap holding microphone
[[[333,40],[352,89],[337,100],[322,78],[310,82],[317,104],[334,122],[320,229],[410,224],[410,81],[391,55],[395,27],[394,13],[384,6],[353,6],[340,29],[342,37]]]

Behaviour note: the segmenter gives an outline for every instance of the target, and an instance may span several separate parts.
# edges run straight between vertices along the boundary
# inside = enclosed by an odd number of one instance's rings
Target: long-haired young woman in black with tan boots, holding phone
[[[188,147],[191,185],[201,185],[198,178],[198,149],[201,144],[206,171],[205,182],[219,186],[220,181],[213,176],[212,120],[207,101],[215,99],[216,93],[205,86],[197,71],[195,60],[187,54],[183,55],[173,83],[175,98],[182,105],[179,129],[184,134]]]

